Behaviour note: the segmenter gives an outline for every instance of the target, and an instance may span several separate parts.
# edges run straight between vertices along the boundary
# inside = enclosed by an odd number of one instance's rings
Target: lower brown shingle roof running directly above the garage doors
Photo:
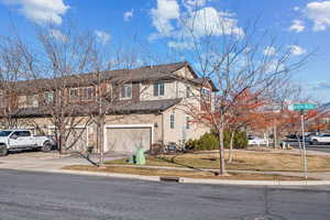
[[[118,103],[112,103],[113,106],[103,105],[102,111],[107,114],[128,114],[128,113],[148,113],[148,112],[162,112],[170,107],[180,102],[182,99],[163,99],[163,100],[150,100],[150,101],[139,101],[139,102],[124,102],[120,101]],[[99,107],[98,103],[85,103],[79,106],[72,105],[67,107],[69,109],[69,114],[86,116],[86,114],[97,114]],[[76,109],[76,112],[73,112]],[[45,107],[38,108],[26,108],[18,109],[12,114],[14,118],[26,118],[26,117],[45,117],[51,116],[51,112]]]

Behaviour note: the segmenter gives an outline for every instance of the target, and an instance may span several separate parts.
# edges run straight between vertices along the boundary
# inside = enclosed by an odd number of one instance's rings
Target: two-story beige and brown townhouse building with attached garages
[[[54,94],[58,81],[65,81],[65,88]],[[12,102],[16,109],[11,117],[20,128],[54,133],[53,110],[47,103],[69,103],[69,109],[76,108],[75,114],[69,117],[81,119],[105,112],[105,152],[133,152],[136,146],[150,150],[154,143],[179,143],[199,138],[209,128],[193,122],[183,103],[204,111],[212,108],[217,91],[212,81],[198,78],[188,63],[19,81],[15,88],[16,99]],[[101,105],[99,96],[102,96]],[[207,97],[209,103],[198,101],[200,96]],[[75,142],[72,150],[85,151],[87,146],[97,145],[95,120],[87,125],[75,124],[74,129],[81,133],[78,141],[70,139]]]

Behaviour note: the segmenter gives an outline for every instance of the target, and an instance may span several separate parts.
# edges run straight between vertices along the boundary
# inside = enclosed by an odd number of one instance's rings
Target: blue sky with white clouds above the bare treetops
[[[105,44],[125,44],[132,35],[161,51],[177,29],[176,20],[191,6],[228,18],[238,29],[260,18],[258,28],[268,29],[283,42],[295,42],[295,53],[317,54],[295,75],[306,94],[330,101],[330,1],[329,0],[0,0],[0,34],[14,23],[19,33],[32,38],[33,23],[68,22],[95,32]],[[221,33],[219,33],[221,34]],[[222,33],[223,34],[223,33]],[[165,43],[164,43],[165,42]]]

